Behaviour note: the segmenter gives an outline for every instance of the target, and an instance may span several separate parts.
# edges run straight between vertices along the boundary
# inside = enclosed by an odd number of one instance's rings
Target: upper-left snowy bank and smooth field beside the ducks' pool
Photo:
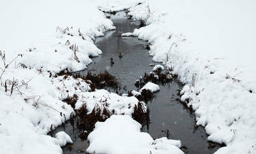
[[[8,57],[23,54],[19,63],[36,69],[85,69],[92,62],[89,57],[101,54],[95,37],[115,29],[89,0],[10,0],[0,5],[5,6],[0,10],[0,50]]]

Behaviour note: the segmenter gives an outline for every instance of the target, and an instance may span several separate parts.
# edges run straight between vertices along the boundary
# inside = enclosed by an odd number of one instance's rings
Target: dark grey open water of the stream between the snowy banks
[[[149,57],[149,50],[145,49],[146,42],[138,40],[136,37],[120,37],[122,33],[132,32],[139,28],[139,22],[131,22],[125,17],[125,12],[118,12],[111,19],[116,26],[116,31],[105,33],[105,37],[98,37],[96,44],[103,51],[103,55],[93,58],[93,63],[88,66],[92,73],[99,73],[107,70],[110,74],[116,76],[122,85],[121,91],[127,93],[128,90],[136,89],[134,81],[142,76],[144,72],[151,72],[152,66],[149,64],[152,57]],[[123,58],[118,57],[119,52]],[[110,58],[114,59],[114,65],[110,65]],[[81,72],[86,75],[87,70]],[[181,140],[185,153],[207,154],[214,153],[220,146],[207,142],[207,135],[203,127],[195,127],[194,115],[184,108],[182,104],[175,101],[179,98],[177,95],[182,84],[178,81],[160,86],[160,91],[155,93],[155,98],[148,103],[150,108],[151,124],[149,130],[143,128],[153,138],[166,136],[162,131],[167,129],[170,132],[171,139]],[[124,88],[123,88],[124,87]],[[55,132],[62,131],[63,127],[58,127]],[[79,132],[76,127],[70,123],[66,124],[65,132],[71,136],[74,141],[73,149],[69,146],[63,148],[64,153],[84,153],[88,147],[88,142],[82,142],[78,137]]]

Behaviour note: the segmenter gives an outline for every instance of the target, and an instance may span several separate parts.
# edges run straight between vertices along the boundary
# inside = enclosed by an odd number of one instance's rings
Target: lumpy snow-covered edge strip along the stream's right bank
[[[191,52],[185,36],[168,28],[166,14],[153,10],[151,5],[143,3],[129,9],[128,16],[148,25],[123,36],[138,36],[148,41],[153,61],[163,62],[179,76],[185,84],[181,99],[195,110],[196,124],[205,126],[208,140],[227,145],[216,153],[255,153],[253,84],[236,78],[238,70],[218,65],[220,59],[207,59]]]

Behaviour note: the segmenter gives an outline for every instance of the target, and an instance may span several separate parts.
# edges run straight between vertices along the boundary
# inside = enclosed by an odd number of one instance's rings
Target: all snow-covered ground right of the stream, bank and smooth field
[[[253,0],[149,0],[129,9],[148,26],[123,36],[148,41],[153,60],[172,67],[208,140],[227,145],[216,153],[256,153],[255,7]]]

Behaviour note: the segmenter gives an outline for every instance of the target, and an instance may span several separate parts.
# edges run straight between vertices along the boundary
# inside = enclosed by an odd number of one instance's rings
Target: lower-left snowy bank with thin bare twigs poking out
[[[47,132],[68,120],[73,108],[60,101],[48,73],[11,68],[1,78],[8,91],[0,87],[0,153],[62,153],[64,144]],[[16,82],[12,94],[8,80]]]

